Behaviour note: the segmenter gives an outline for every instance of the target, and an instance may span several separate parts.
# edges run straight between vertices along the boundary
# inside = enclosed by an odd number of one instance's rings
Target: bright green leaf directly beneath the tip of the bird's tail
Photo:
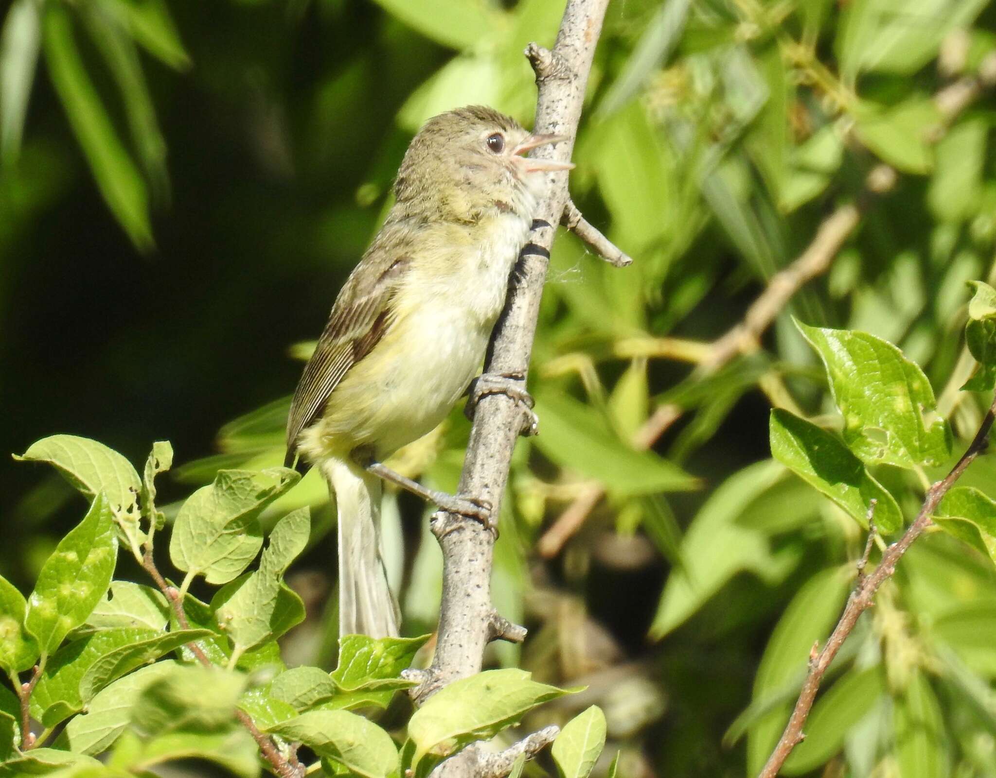
[[[425,642],[432,637],[380,638],[367,635],[345,635],[339,639],[339,667],[332,680],[344,691],[408,688],[409,681],[400,678]]]

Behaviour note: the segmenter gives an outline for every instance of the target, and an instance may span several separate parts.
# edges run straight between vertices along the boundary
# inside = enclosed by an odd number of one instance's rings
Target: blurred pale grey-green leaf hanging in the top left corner
[[[15,160],[21,150],[28,97],[35,81],[41,38],[40,3],[14,0],[0,33],[0,157]]]

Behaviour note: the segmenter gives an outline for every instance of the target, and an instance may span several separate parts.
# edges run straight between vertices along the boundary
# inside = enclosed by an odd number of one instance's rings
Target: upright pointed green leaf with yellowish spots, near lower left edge
[[[86,517],[59,541],[28,597],[24,625],[43,657],[83,624],[111,585],[118,557],[108,498],[97,495]]]

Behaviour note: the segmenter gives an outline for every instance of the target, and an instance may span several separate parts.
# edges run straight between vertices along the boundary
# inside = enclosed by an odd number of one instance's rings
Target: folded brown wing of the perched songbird
[[[386,267],[376,274],[378,265]],[[390,326],[391,298],[408,267],[405,257],[387,261],[382,255],[369,255],[339,292],[329,322],[294,392],[287,419],[285,467],[294,464],[301,431],[322,415],[329,396],[343,376],[371,352]]]

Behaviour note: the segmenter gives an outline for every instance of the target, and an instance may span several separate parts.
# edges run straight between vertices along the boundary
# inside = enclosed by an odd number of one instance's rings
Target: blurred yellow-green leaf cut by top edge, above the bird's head
[[[504,14],[479,0],[422,0],[418,5],[405,0],[376,2],[426,38],[453,49],[471,48],[506,22]]]

